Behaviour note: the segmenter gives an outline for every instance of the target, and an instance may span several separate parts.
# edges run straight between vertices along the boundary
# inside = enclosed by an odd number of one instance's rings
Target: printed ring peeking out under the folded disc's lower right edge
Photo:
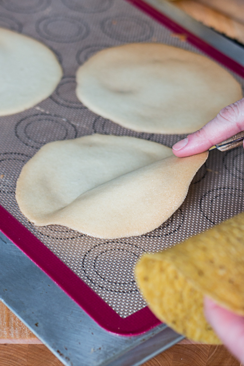
[[[176,231],[183,225],[184,215],[181,208],[173,213],[172,216],[168,218],[162,225],[157,227],[157,229],[150,231],[142,236],[149,238],[160,238],[163,236],[168,236]],[[174,227],[176,226],[176,227]]]

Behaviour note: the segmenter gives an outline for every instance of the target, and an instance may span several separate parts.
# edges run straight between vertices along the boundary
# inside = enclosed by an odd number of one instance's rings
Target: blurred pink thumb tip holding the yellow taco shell
[[[244,318],[204,299],[204,312],[207,321],[233,355],[244,364]]]

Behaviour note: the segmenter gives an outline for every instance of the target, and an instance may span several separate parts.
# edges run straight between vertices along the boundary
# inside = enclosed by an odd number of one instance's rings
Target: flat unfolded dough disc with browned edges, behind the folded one
[[[241,85],[208,58],[160,43],[100,51],[77,72],[77,96],[135,131],[190,133],[242,98]]]

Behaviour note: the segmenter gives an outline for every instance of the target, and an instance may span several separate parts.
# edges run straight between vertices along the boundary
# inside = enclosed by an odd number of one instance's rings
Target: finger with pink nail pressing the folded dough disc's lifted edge
[[[223,108],[199,131],[177,142],[173,146],[173,153],[179,158],[200,154],[241,131],[244,131],[244,98]]]

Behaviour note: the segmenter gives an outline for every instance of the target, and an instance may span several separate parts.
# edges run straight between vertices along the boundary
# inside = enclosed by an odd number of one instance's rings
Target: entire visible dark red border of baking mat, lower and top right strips
[[[126,1],[140,8],[175,33],[185,35],[188,42],[244,77],[243,66],[194,36],[152,6],[142,0]],[[1,206],[0,230],[59,285],[68,296],[80,305],[95,322],[107,331],[124,336],[139,335],[161,324],[148,307],[144,307],[126,318],[121,318],[50,249]]]

